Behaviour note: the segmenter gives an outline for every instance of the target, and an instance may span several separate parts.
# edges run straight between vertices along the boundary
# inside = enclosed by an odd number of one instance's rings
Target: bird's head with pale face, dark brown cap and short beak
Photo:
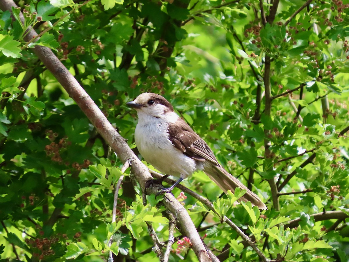
[[[137,110],[138,115],[146,114],[153,117],[164,117],[166,113],[173,112],[173,107],[164,97],[154,93],[143,93],[135,100],[126,103]]]

